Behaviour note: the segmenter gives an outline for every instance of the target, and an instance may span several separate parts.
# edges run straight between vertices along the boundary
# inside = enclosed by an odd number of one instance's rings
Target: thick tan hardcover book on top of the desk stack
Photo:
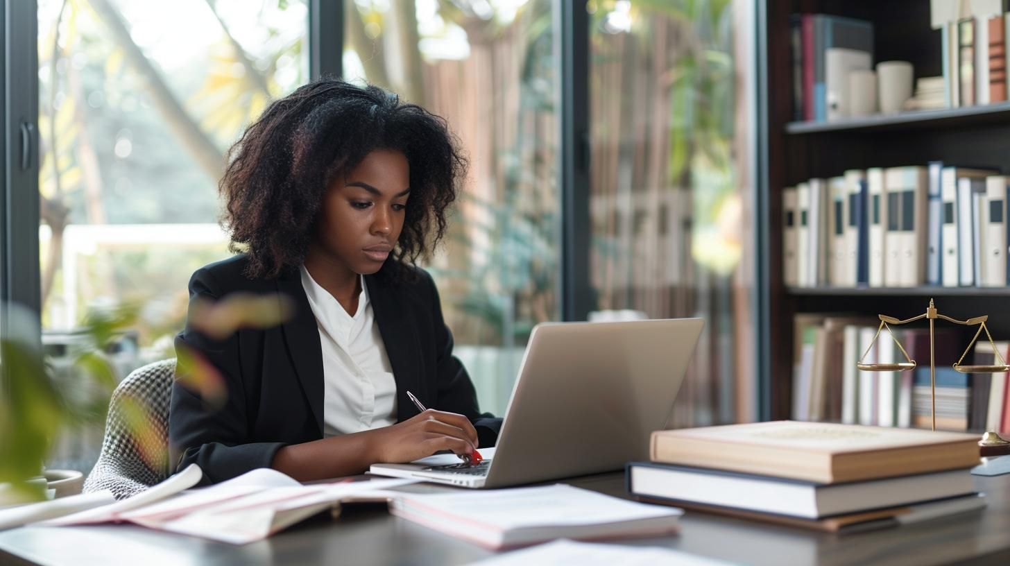
[[[776,420],[656,431],[649,459],[833,483],[975,466],[978,442],[962,433]]]

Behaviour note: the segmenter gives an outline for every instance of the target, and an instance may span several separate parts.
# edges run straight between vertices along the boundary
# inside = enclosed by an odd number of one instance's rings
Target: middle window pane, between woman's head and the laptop
[[[345,2],[343,74],[444,117],[469,184],[426,268],[483,410],[502,414],[536,322],[560,317],[550,0]]]

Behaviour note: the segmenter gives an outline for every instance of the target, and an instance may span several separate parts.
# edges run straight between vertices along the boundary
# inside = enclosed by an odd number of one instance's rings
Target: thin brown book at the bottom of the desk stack
[[[763,523],[808,529],[822,533],[835,533],[838,535],[865,533],[868,531],[898,527],[900,525],[912,525],[923,521],[932,521],[934,518],[976,511],[986,506],[986,499],[981,493],[972,493],[961,497],[951,497],[949,499],[925,501],[911,505],[902,505],[872,511],[856,511],[853,513],[839,514],[824,518],[800,518],[783,514],[748,511],[735,507],[720,507],[717,505],[705,505],[702,503],[669,501],[659,497],[638,496],[635,497],[635,499],[645,503],[665,505],[676,503],[677,505],[691,510],[746,518],[749,521],[761,521]]]

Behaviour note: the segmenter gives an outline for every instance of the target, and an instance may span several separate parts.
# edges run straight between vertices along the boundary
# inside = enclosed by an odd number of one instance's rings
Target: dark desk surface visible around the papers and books
[[[985,510],[907,527],[835,536],[688,511],[677,536],[620,544],[656,545],[735,563],[776,566],[1010,564],[1010,475],[975,476],[975,480],[987,493]],[[567,483],[624,495],[622,474]],[[428,484],[409,487],[446,489]],[[350,506],[335,521],[312,520],[240,547],[125,525],[0,532],[0,564],[466,564],[491,554],[392,516],[378,505]]]

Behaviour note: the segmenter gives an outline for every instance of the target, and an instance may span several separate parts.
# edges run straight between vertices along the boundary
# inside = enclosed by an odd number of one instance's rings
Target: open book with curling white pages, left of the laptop
[[[149,529],[231,544],[259,541],[344,501],[388,500],[387,489],[416,480],[388,479],[302,485],[261,468],[200,489],[181,493],[202,472],[183,472],[128,499],[40,523],[43,526],[133,523]]]

